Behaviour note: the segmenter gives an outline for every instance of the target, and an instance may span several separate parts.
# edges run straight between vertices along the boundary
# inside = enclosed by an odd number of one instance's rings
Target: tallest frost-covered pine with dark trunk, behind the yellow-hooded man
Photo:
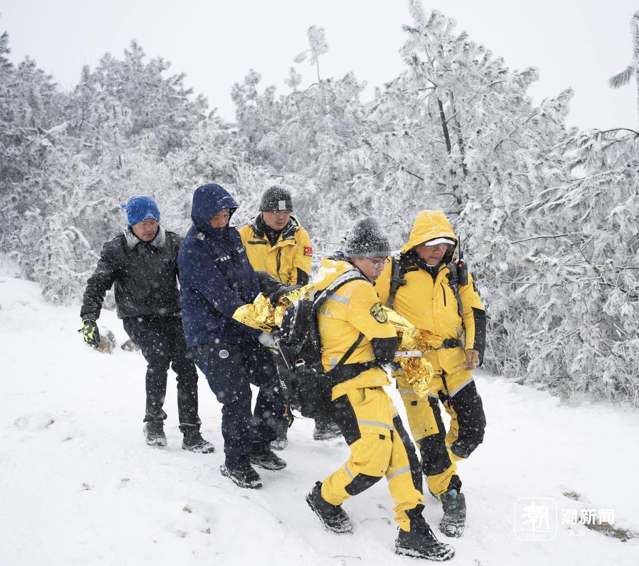
[[[572,92],[533,107],[527,88],[537,71],[512,71],[454,21],[426,17],[411,1],[412,26],[401,49],[406,70],[371,105],[381,135],[365,136],[373,167],[353,185],[369,213],[387,221],[403,243],[424,208],[445,211],[463,238],[466,257],[489,315],[486,365],[521,375],[525,330],[534,312],[514,293],[525,280],[521,249],[528,235],[521,205],[566,180],[550,149],[564,139]]]

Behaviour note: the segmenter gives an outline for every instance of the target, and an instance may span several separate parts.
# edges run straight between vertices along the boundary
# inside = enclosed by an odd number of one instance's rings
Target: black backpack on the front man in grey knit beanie
[[[375,361],[346,363],[364,338],[361,332],[332,369],[325,371],[321,363],[318,310],[339,287],[356,279],[367,280],[358,270],[350,270],[316,293],[312,300],[297,300],[284,310],[279,337],[275,339],[275,360],[289,406],[304,417],[326,415],[335,385],[377,365]]]

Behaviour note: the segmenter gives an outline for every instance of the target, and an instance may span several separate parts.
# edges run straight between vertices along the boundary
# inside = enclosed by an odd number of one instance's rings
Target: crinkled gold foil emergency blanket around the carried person
[[[233,313],[233,318],[251,328],[257,328],[263,332],[271,332],[273,328],[281,325],[286,307],[289,307],[298,299],[312,298],[313,291],[314,287],[312,285],[305,285],[295,289],[295,291],[283,295],[277,307],[273,307],[268,297],[264,293],[260,293],[253,303],[239,307]],[[389,322],[395,327],[397,332],[400,351],[420,350],[423,353],[430,349],[439,348],[442,345],[443,340],[440,336],[428,330],[415,328],[394,310],[387,307],[384,307],[384,310],[389,317]],[[435,375],[431,363],[424,357],[396,359],[399,361],[399,365],[401,365],[413,391],[419,397],[426,397],[431,379]]]

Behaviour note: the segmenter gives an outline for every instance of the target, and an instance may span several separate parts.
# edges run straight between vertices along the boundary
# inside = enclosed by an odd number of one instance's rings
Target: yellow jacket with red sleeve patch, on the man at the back
[[[266,234],[258,229],[256,220],[240,228],[240,237],[249,256],[249,263],[257,271],[265,271],[286,285],[298,282],[298,270],[308,277],[311,273],[313,249],[309,233],[291,216],[279,239],[271,246]]]

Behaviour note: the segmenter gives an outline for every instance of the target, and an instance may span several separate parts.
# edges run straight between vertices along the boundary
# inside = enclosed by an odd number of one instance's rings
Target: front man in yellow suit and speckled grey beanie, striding
[[[447,560],[454,551],[436,539],[422,517],[424,496],[415,447],[383,389],[390,385],[387,372],[378,365],[392,362],[397,348],[396,332],[372,284],[389,253],[379,223],[366,218],[351,231],[344,252],[322,260],[313,280],[316,293],[340,278],[346,280],[334,292],[328,289],[332,294],[319,308],[317,322],[323,367],[327,372],[339,370],[332,377],[330,413],[350,448],[350,458],[317,482],[306,501],[326,528],[348,532],[351,522],[341,503],[385,476],[399,524],[396,553]]]

